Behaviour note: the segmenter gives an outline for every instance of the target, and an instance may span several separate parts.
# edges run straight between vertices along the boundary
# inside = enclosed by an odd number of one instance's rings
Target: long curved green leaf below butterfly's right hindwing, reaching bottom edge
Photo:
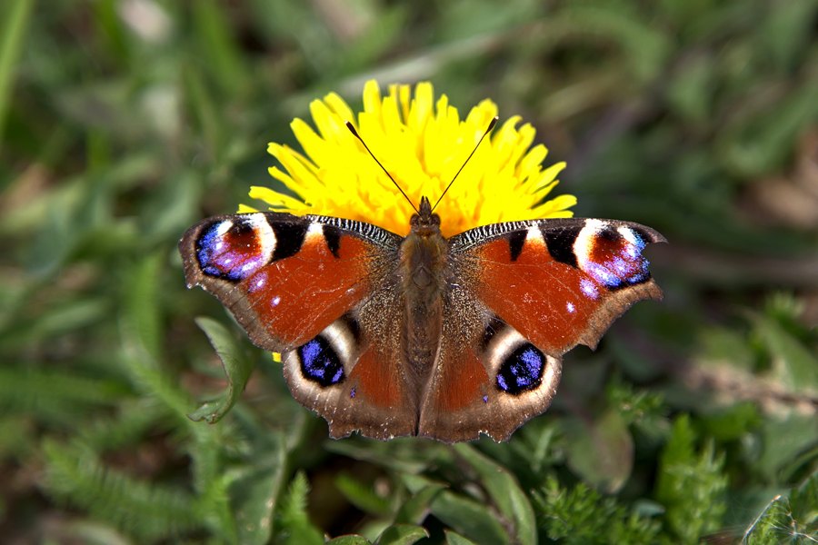
[[[534,510],[520,485],[508,470],[480,454],[466,443],[454,445],[456,451],[480,475],[481,482],[497,509],[503,514],[513,532],[515,542],[523,545],[536,543]]]

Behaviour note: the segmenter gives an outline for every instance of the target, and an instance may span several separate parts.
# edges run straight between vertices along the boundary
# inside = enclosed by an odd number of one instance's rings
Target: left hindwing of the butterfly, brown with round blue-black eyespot
[[[283,354],[296,401],[329,424],[382,441],[417,434],[417,394],[401,350],[403,299],[390,282],[313,341]]]

